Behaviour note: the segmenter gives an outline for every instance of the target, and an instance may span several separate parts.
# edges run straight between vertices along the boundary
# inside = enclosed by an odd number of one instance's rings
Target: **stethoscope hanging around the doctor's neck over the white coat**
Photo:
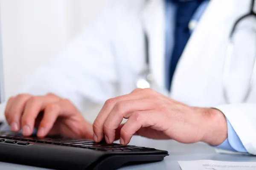
[[[224,100],[227,104],[230,103],[230,99],[229,99],[228,93],[227,93],[227,88],[228,88],[227,84],[228,84],[228,78],[229,78],[229,74],[230,74],[230,63],[231,63],[231,59],[233,56],[233,47],[234,47],[233,36],[234,36],[236,27],[239,24],[239,22],[241,22],[242,20],[244,20],[245,18],[250,17],[250,16],[256,17],[256,13],[253,11],[254,2],[255,2],[255,0],[251,0],[250,12],[248,14],[241,16],[238,20],[236,20],[236,22],[232,28],[232,31],[230,32],[230,35],[229,35],[227,54],[224,59],[223,79],[222,79],[222,86],[223,86],[222,92],[223,92]],[[150,70],[148,36],[146,33],[144,33],[144,37],[145,37],[144,38],[145,39],[145,68],[143,68],[143,70],[140,71],[140,73],[138,74],[137,88],[152,88],[152,85],[154,84],[154,76]],[[242,98],[241,102],[246,102],[250,96],[250,92],[251,92],[252,86],[253,86],[253,76],[255,73],[256,73],[256,57],[254,58],[253,71],[250,74],[249,87],[247,88],[247,91],[246,91],[244,97]]]

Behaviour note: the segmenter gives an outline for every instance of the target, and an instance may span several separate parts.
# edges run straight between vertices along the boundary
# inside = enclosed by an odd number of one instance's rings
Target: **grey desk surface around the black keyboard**
[[[122,167],[120,170],[180,170],[177,161],[211,159],[218,161],[256,161],[256,156],[228,155],[215,152],[213,147],[204,143],[180,144],[175,141],[157,141],[134,136],[131,144],[138,146],[154,147],[161,150],[168,150],[170,156],[166,156],[164,161],[132,165]],[[23,165],[8,164],[0,162],[0,170],[48,170],[38,167],[28,167]]]

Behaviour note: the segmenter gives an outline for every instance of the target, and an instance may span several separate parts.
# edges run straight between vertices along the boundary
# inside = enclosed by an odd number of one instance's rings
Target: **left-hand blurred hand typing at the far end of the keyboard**
[[[39,137],[49,134],[93,139],[92,124],[69,100],[54,94],[11,97],[6,104],[5,116],[11,130],[18,132],[22,129],[23,136],[31,136],[35,127]]]

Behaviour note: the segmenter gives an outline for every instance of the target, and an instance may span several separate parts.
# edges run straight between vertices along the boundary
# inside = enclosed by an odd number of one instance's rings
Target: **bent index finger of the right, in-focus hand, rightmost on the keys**
[[[154,126],[157,119],[151,111],[134,112],[120,130],[120,143],[126,145],[131,137],[142,127]]]

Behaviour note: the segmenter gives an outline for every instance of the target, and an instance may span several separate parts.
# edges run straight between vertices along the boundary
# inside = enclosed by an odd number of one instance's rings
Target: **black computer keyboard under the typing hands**
[[[167,151],[150,147],[0,132],[0,161],[50,169],[115,170],[127,163],[162,161],[165,156]]]

